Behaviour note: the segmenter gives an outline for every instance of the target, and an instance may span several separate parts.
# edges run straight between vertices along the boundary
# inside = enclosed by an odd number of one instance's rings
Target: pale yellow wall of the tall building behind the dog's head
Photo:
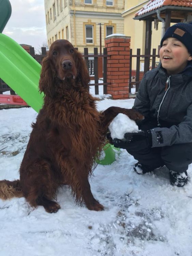
[[[63,3],[62,11],[60,10],[60,2]],[[56,19],[50,20],[46,24],[47,28],[47,42],[50,47],[50,42],[62,38],[62,30],[64,31],[63,39],[66,39],[66,26],[69,29],[69,41],[78,47],[80,52],[84,52],[84,47],[89,48],[89,53],[93,53],[93,48],[100,48],[100,25],[102,23],[102,48],[104,47],[104,39],[106,37],[106,25],[114,26],[114,33],[124,33],[124,20],[121,13],[124,11],[124,0],[114,0],[114,6],[106,6],[106,0],[93,0],[93,4],[85,4],[84,0],[70,0],[67,1],[67,6],[64,7],[64,1],[58,0],[59,15],[57,12],[57,0],[45,0],[45,14],[50,16],[50,9],[53,4],[56,7]],[[86,44],[85,42],[85,24],[94,25],[94,42],[93,44]],[[98,52],[100,49],[98,49]],[[102,50],[103,52],[103,50]]]

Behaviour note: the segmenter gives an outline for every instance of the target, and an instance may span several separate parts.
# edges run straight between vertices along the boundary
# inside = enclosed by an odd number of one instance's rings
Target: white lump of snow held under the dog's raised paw
[[[134,120],[131,120],[124,114],[118,114],[109,125],[109,131],[112,139],[122,140],[126,132],[137,132],[138,126]]]

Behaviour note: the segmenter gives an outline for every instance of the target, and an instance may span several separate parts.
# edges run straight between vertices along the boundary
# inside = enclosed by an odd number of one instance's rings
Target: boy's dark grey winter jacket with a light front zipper
[[[182,73],[169,77],[161,65],[148,71],[133,109],[158,120],[158,127],[151,129],[152,147],[192,142],[192,61]]]

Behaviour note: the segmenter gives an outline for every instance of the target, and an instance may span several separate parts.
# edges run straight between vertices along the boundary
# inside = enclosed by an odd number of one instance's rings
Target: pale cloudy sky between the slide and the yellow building
[[[10,3],[12,14],[3,34],[38,49],[47,41],[44,0],[10,0]]]

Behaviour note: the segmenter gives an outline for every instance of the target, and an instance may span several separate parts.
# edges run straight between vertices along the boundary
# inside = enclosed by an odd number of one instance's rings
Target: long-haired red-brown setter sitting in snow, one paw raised
[[[77,203],[89,210],[103,210],[93,197],[88,181],[103,145],[110,121],[118,114],[131,119],[142,115],[117,107],[99,113],[89,94],[90,77],[82,55],[67,40],[55,41],[43,60],[39,90],[44,104],[32,124],[20,166],[20,180],[0,182],[0,198],[24,196],[36,208],[49,213],[60,209],[59,186],[71,187]],[[54,200],[55,199],[55,200]]]

